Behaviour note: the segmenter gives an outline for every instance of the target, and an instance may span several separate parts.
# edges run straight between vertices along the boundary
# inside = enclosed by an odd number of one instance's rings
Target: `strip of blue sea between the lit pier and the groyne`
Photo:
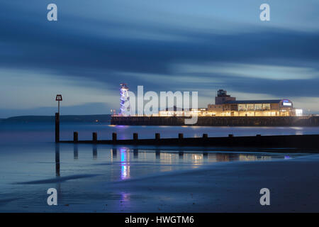
[[[0,123],[0,143],[22,142],[53,142],[54,124],[50,123]],[[92,132],[98,133],[98,139],[111,139],[113,132],[118,133],[118,139],[133,138],[133,133],[139,133],[139,138],[155,138],[160,133],[161,138],[177,138],[178,133],[184,137],[237,135],[303,135],[318,134],[319,127],[203,127],[203,126],[109,126],[100,123],[61,123],[60,139],[73,140],[73,132],[79,132],[79,140],[91,139]]]

